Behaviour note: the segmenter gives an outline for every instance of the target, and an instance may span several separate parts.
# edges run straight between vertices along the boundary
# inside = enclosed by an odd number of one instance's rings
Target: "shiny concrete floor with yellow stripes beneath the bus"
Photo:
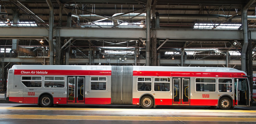
[[[142,109],[137,106],[57,105],[40,108],[30,104],[0,104],[2,123],[255,123],[256,107],[220,110],[202,106],[158,106]]]

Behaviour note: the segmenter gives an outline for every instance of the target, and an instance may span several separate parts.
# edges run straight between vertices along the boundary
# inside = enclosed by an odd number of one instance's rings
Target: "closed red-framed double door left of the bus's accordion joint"
[[[68,77],[67,103],[84,103],[84,77]]]

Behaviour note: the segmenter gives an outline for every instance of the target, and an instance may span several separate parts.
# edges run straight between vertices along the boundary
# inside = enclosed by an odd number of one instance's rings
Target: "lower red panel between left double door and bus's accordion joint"
[[[85,98],[84,104],[111,104],[111,98]]]

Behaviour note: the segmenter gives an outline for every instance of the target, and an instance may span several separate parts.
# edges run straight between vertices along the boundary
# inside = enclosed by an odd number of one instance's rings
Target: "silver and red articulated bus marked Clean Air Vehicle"
[[[246,73],[233,68],[14,65],[7,101],[23,104],[250,106]]]

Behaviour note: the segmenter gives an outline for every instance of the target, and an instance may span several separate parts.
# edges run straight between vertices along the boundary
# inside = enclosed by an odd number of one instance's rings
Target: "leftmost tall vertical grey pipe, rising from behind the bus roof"
[[[53,5],[51,0],[46,0],[49,5],[49,50],[50,50],[50,60],[49,65],[54,64],[54,46],[53,46]]]

